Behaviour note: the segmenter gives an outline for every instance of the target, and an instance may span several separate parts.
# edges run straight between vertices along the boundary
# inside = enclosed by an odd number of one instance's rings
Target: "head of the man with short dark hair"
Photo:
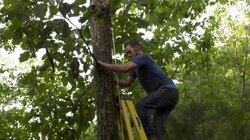
[[[142,53],[141,45],[138,41],[132,39],[124,44],[124,51],[129,56],[136,56]]]

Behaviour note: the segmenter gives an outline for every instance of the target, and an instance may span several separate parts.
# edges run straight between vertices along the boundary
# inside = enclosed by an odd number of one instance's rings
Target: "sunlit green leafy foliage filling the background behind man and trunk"
[[[117,62],[128,60],[122,44],[135,38],[178,85],[169,139],[250,139],[249,1],[108,2]],[[21,48],[26,67],[9,68],[0,56],[0,139],[94,139],[89,26],[101,14],[86,0],[0,1],[1,51]],[[144,96],[138,83],[128,91],[135,102]]]

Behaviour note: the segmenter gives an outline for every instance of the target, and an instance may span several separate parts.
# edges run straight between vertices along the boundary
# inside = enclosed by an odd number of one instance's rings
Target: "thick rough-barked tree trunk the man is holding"
[[[106,0],[95,0],[93,4],[95,5],[95,11],[99,11],[98,14],[91,18],[90,22],[93,51],[98,60],[111,63],[111,48],[113,45],[108,6]],[[118,133],[113,74],[96,67],[94,81],[97,108],[97,139],[115,140]]]

